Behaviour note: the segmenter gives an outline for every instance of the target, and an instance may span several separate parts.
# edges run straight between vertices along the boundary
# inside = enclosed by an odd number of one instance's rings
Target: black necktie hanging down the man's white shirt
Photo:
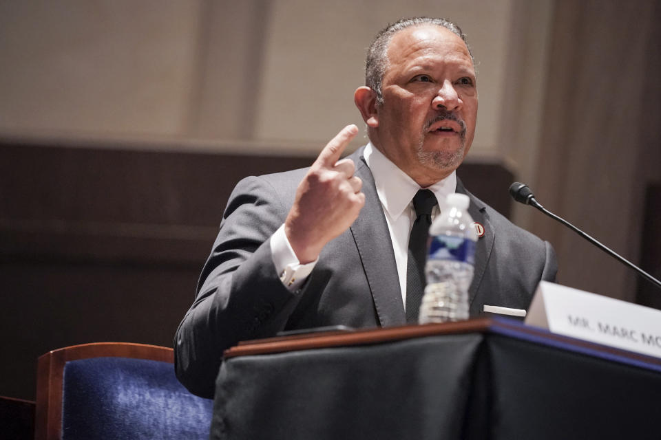
[[[419,190],[413,197],[416,219],[408,241],[406,267],[406,321],[418,322],[420,303],[425,292],[425,263],[427,261],[427,236],[432,224],[432,209],[436,196],[430,190]]]

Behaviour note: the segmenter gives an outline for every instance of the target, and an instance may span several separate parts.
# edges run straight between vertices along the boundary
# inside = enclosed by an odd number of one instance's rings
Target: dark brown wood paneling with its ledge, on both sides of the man
[[[120,147],[0,143],[0,258],[197,265],[242,177],[313,160]],[[468,162],[458,174],[510,214],[509,170]]]

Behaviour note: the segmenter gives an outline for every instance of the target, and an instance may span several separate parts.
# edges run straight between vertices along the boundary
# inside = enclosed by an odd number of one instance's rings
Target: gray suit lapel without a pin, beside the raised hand
[[[355,175],[363,181],[365,206],[350,230],[372,293],[381,327],[404,325],[406,315],[401,301],[397,263],[392,250],[388,223],[370,168],[362,148],[350,156],[356,164]]]

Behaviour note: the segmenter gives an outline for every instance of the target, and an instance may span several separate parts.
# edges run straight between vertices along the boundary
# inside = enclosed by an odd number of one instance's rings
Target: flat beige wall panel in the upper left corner
[[[0,132],[179,135],[200,1],[0,2]]]

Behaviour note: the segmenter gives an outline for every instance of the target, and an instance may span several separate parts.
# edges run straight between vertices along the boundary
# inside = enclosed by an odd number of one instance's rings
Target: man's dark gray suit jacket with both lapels
[[[386,217],[362,151],[350,157],[363,181],[365,206],[353,225],[326,245],[298,292],[289,292],[277,277],[269,241],[307,170],[247,177],[235,187],[196,300],[176,334],[176,373],[191,392],[213,396],[222,352],[240,340],[285,329],[406,324]],[[470,197],[470,215],[485,228],[476,246],[471,316],[485,304],[526,309],[537,283],[555,278],[554,251],[466,191],[461,181],[457,192]]]

